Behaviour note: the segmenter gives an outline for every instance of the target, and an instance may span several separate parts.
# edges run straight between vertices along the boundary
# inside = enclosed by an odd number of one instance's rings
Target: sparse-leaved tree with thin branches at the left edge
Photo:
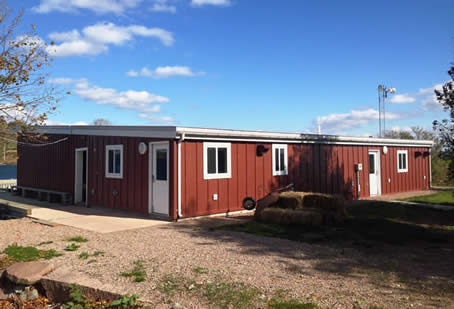
[[[42,124],[58,103],[46,84],[51,46],[38,38],[35,26],[17,33],[23,13],[11,16],[6,2],[0,2],[0,134],[11,124],[18,132]]]

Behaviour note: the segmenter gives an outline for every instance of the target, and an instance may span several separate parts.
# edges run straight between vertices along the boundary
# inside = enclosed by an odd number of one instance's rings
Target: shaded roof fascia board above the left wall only
[[[176,128],[164,126],[40,126],[37,128],[37,132],[40,134],[176,138]]]

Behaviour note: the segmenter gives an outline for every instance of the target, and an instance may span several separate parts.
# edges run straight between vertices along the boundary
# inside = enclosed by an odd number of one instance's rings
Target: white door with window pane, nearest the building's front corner
[[[169,143],[151,143],[151,212],[169,215]]]

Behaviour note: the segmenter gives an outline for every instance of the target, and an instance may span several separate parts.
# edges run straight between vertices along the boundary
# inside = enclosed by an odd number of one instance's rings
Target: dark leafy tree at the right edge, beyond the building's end
[[[443,109],[448,112],[450,119],[435,120],[433,127],[439,133],[445,154],[450,159],[449,178],[454,180],[454,66],[448,74],[452,80],[444,84],[441,90],[435,90],[435,96]]]

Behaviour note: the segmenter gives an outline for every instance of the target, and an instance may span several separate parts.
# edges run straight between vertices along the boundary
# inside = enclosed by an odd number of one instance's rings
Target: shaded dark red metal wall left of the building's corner
[[[49,135],[46,143],[64,138]],[[88,147],[88,203],[114,209],[148,213],[148,151],[138,153],[140,142],[156,139],[137,137],[72,135],[67,141],[45,147],[19,145],[18,185],[74,193],[75,149]],[[123,145],[123,178],[105,177],[106,145]],[[170,141],[169,175],[176,173],[175,143]],[[174,177],[169,178],[171,217],[175,216]]]

